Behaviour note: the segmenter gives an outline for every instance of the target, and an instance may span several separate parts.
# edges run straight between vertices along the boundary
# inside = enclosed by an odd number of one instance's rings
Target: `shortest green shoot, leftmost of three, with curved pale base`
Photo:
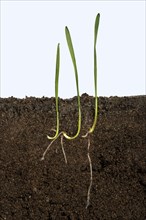
[[[60,68],[60,44],[57,45],[57,54],[56,54],[56,74],[55,74],[55,99],[56,99],[56,133],[53,137],[47,135],[47,138],[54,140],[58,137],[59,133],[59,110],[58,110],[58,82],[59,82],[59,68]],[[54,130],[54,129],[52,129]]]

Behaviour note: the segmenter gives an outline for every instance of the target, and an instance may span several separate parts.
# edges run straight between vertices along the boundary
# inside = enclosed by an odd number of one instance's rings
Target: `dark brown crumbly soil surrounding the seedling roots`
[[[87,138],[94,98],[81,96],[82,128],[75,140],[54,135],[55,98],[0,98],[1,220],[146,220],[146,96],[99,97],[99,115]],[[77,131],[77,97],[59,99],[60,130]]]

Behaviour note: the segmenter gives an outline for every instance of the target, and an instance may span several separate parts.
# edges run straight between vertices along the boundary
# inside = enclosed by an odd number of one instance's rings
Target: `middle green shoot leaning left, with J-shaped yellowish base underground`
[[[81,107],[80,107],[80,94],[79,94],[78,71],[77,71],[76,58],[75,58],[75,54],[74,54],[74,49],[73,49],[73,44],[72,44],[70,32],[69,32],[67,27],[65,27],[65,34],[66,34],[66,40],[67,40],[68,48],[69,48],[69,51],[70,51],[70,55],[71,55],[71,59],[72,59],[72,63],[73,63],[74,71],[75,71],[76,88],[77,88],[77,96],[78,96],[78,114],[79,114],[79,116],[78,116],[78,130],[77,130],[77,133],[72,137],[68,136],[66,132],[63,132],[63,135],[68,140],[73,140],[79,135],[80,130],[81,130]]]

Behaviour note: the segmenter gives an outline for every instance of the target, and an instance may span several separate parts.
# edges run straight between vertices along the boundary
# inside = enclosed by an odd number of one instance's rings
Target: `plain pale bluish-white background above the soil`
[[[94,95],[93,34],[97,39],[98,96],[145,94],[145,1],[2,1],[1,97],[54,96],[60,42],[59,96],[76,95],[66,44],[74,45],[80,94]]]

